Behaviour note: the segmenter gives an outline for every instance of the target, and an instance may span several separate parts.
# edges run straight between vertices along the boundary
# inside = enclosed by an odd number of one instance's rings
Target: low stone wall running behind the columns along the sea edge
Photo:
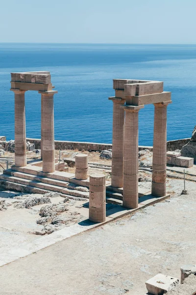
[[[41,140],[35,138],[27,138],[26,141],[35,145],[35,148],[41,148]],[[172,140],[167,142],[167,150],[181,149],[190,141],[190,138]],[[54,141],[55,149],[78,149],[78,150],[89,150],[89,151],[100,151],[104,149],[112,149],[111,144],[98,144],[98,143],[85,143],[85,142],[69,142],[69,141]],[[143,149],[153,150],[153,147],[139,146],[139,151]]]

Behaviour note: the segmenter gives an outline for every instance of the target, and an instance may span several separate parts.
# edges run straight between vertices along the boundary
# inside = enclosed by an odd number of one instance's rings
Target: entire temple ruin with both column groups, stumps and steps
[[[11,170],[4,170],[0,176],[8,188],[32,192],[33,186],[42,189],[42,193],[56,191],[67,194],[66,187],[70,182],[80,186],[94,186],[91,181],[93,183],[95,177],[91,177],[89,182],[87,175],[87,155],[75,156],[75,174],[66,171],[68,168],[65,169],[64,162],[55,163],[57,159],[55,160],[54,156],[53,96],[57,91],[53,88],[49,72],[11,73],[11,90],[15,93],[15,165]],[[123,200],[123,207],[134,209],[138,208],[139,197],[138,113],[146,104],[154,104],[155,107],[151,195],[167,196],[167,106],[172,102],[171,92],[163,91],[163,82],[159,81],[114,79],[113,88],[115,96],[109,97],[113,101],[112,178],[111,183],[107,181],[106,188],[110,187],[111,191],[120,192],[123,195],[120,197]],[[41,159],[28,163],[25,132],[25,91],[27,90],[36,90],[41,94]],[[15,187],[13,183],[21,186]],[[26,184],[27,188],[24,187]],[[102,187],[104,188],[105,184]],[[100,187],[101,192],[102,187]],[[90,199],[91,196],[93,194],[90,192]],[[90,200],[90,204],[101,204],[97,209],[90,205],[91,220],[97,222],[105,220],[105,216],[92,217],[94,215],[92,207],[96,210],[95,215],[98,214],[98,210],[102,212],[101,214],[106,214],[103,198],[105,193],[102,192],[96,201]]]

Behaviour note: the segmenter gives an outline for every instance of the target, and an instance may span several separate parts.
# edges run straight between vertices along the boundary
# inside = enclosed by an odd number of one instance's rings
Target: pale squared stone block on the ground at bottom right
[[[146,282],[147,292],[152,295],[163,295],[179,283],[177,278],[158,273]]]

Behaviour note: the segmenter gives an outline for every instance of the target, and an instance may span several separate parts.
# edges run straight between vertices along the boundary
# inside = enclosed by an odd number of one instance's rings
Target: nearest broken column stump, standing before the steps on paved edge
[[[89,219],[93,222],[104,222],[106,219],[105,176],[103,174],[90,175]]]

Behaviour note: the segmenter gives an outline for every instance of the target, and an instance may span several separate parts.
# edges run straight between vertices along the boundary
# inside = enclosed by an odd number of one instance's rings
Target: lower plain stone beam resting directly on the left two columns
[[[35,91],[50,91],[52,90],[52,84],[39,84],[39,83],[26,83],[26,82],[12,82],[11,89],[21,90],[35,90]]]

